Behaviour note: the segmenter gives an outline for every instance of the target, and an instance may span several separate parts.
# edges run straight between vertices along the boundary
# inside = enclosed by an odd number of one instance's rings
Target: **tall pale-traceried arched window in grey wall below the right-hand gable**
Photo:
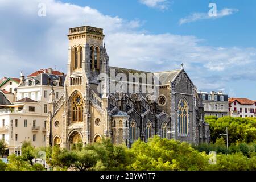
[[[181,98],[178,104],[177,123],[179,134],[188,133],[188,103]]]

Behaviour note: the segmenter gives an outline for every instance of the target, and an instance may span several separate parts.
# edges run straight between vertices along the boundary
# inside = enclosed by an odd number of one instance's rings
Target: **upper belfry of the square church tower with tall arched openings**
[[[69,28],[67,76],[85,73],[89,83],[98,84],[97,75],[108,72],[108,55],[103,44],[104,37],[102,28],[90,26]],[[80,84],[80,79],[71,80],[69,84]]]

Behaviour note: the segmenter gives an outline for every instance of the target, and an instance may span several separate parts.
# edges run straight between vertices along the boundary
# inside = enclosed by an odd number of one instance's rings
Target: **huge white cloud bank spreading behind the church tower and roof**
[[[47,5],[47,16],[38,17],[38,3]],[[201,90],[223,89],[231,80],[249,80],[255,76],[256,49],[203,46],[196,36],[142,34],[141,20],[125,20],[104,15],[96,9],[53,0],[2,0],[0,20],[0,75],[18,77],[40,68],[67,72],[68,28],[90,26],[104,28],[104,41],[110,65],[166,71],[185,70]],[[6,18],[8,17],[8,18]],[[228,89],[226,89],[228,90]]]

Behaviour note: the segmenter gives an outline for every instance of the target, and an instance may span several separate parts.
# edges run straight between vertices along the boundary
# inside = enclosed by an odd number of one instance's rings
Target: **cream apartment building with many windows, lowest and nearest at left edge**
[[[0,109],[0,140],[5,140],[9,154],[20,154],[22,142],[31,141],[35,147],[46,144],[47,115],[42,114],[39,102],[30,98]]]

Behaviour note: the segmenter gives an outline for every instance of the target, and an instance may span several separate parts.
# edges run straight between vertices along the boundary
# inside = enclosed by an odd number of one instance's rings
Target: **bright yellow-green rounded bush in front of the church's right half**
[[[129,150],[130,170],[204,170],[208,156],[196,151],[188,143],[155,136],[145,143],[135,142]]]

